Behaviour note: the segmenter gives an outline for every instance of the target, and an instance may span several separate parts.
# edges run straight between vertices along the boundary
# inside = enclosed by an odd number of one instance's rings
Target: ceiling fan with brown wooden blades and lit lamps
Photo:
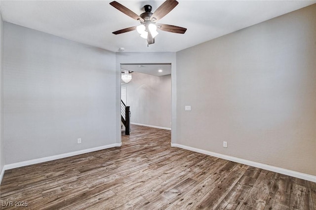
[[[166,32],[184,34],[187,31],[187,29],[185,28],[156,23],[156,21],[160,20],[166,14],[168,14],[176,5],[178,5],[178,3],[179,2],[176,0],[166,0],[158,7],[158,9],[154,13],[151,12],[151,5],[145,5],[145,12],[140,15],[137,15],[136,13],[134,13],[127,7],[123,6],[122,4],[118,3],[117,1],[112,1],[110,3],[112,6],[114,6],[124,14],[128,15],[129,17],[139,21],[141,24],[139,26],[133,26],[126,29],[118,30],[116,32],[113,32],[113,34],[118,35],[125,32],[137,30],[141,37],[147,39],[148,44],[155,43],[155,36],[158,35],[157,29]]]

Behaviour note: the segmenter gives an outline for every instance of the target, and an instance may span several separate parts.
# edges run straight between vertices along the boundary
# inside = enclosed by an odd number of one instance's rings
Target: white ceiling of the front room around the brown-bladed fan
[[[155,11],[163,1],[117,0],[136,14],[145,4]],[[6,22],[118,52],[177,52],[207,40],[316,3],[316,0],[227,1],[178,0],[179,4],[158,23],[187,28],[184,35],[159,31],[155,44],[136,31],[112,32],[137,26],[138,22],[111,6],[110,0],[8,1],[1,0]]]

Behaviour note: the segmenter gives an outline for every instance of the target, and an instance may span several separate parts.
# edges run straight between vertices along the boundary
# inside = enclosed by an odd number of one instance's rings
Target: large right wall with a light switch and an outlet
[[[316,175],[315,81],[316,4],[177,52],[175,143]]]

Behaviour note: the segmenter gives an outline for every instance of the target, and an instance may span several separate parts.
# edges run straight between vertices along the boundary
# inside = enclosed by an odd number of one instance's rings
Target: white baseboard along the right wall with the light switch
[[[303,174],[300,172],[294,172],[291,170],[287,170],[287,169],[282,169],[282,168],[278,168],[278,167],[274,167],[274,166],[270,166],[270,165],[266,165],[266,164],[262,164],[262,163],[257,163],[257,162],[253,162],[253,161],[249,161],[249,160],[244,160],[241,158],[236,158],[236,157],[232,157],[232,156],[228,156],[228,155],[223,155],[223,154],[219,154],[219,153],[215,153],[215,152],[210,152],[207,150],[203,150],[203,149],[198,149],[195,147],[191,147],[191,146],[186,146],[186,145],[182,145],[182,144],[178,144],[178,143],[171,143],[171,146],[174,147],[179,147],[182,149],[187,149],[187,150],[191,150],[194,152],[198,152],[198,153],[202,153],[205,155],[210,155],[210,156],[214,156],[214,157],[218,157],[221,159],[225,159],[225,160],[229,160],[229,161],[233,161],[233,162],[237,162],[237,163],[241,163],[241,164],[245,164],[248,166],[253,166],[253,167],[257,167],[260,169],[265,169],[268,171],[272,171],[272,172],[276,172],[279,174],[283,174],[283,175],[289,175],[289,176],[293,176],[296,178],[301,178],[301,179],[305,179],[308,181],[313,181],[316,182],[316,176],[314,175],[308,175],[308,174]]]

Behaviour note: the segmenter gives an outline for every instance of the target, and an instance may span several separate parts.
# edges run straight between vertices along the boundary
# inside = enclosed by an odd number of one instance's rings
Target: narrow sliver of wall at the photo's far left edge
[[[4,166],[3,149],[3,21],[0,12],[0,175]],[[1,177],[0,177],[1,183]]]

